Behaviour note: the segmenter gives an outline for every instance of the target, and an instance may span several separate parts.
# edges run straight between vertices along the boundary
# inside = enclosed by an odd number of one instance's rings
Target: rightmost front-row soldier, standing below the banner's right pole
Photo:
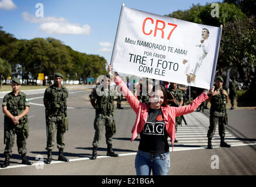
[[[220,135],[220,147],[231,147],[224,141],[225,137],[225,126],[227,124],[227,112],[226,103],[229,102],[229,96],[227,92],[222,88],[223,78],[218,76],[215,81],[215,91],[206,100],[210,101],[210,126],[207,133],[208,146],[207,148],[212,149],[212,137],[215,134],[217,123],[219,122],[219,135]]]

